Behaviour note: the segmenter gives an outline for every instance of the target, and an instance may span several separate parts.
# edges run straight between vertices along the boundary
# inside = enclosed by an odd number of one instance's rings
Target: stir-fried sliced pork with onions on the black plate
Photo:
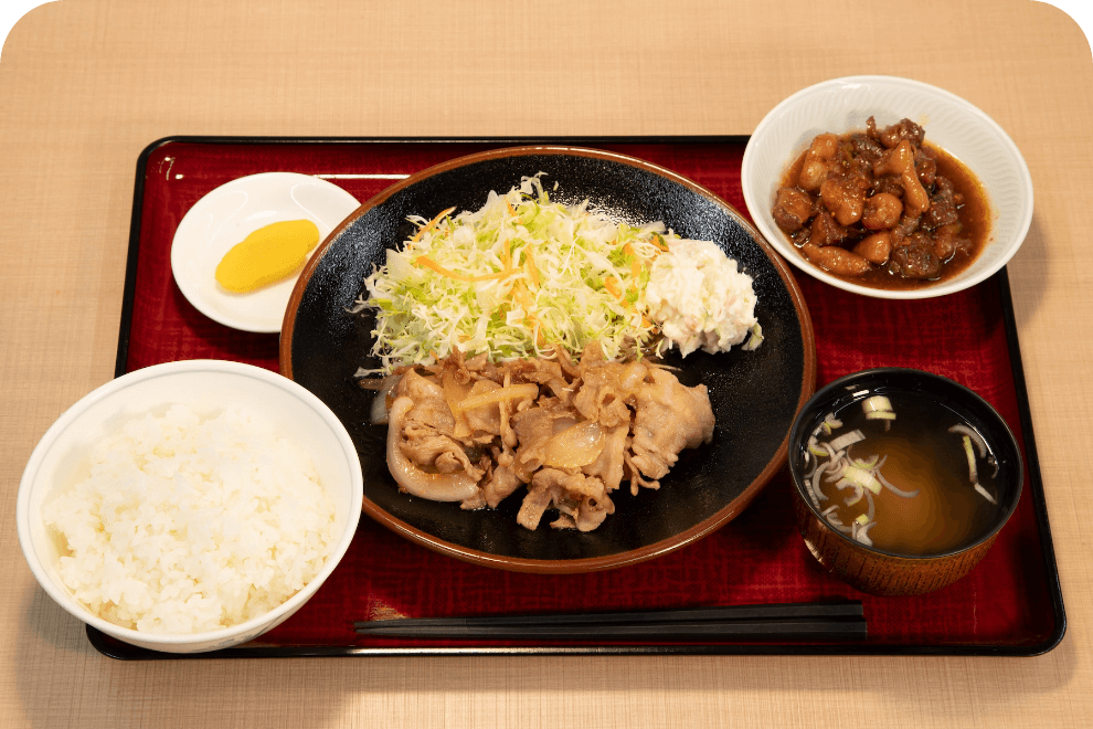
[[[460,355],[388,378],[388,467],[403,492],[465,509],[497,507],[522,487],[517,521],[590,531],[633,494],[659,488],[685,448],[713,437],[707,388],[667,368],[618,362],[590,345],[580,362],[494,363]]]

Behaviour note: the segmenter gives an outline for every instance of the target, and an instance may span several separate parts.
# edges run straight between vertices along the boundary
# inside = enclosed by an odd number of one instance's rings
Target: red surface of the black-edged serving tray
[[[146,150],[138,169],[139,244],[127,371],[159,362],[215,358],[276,371],[277,335],[236,331],[201,315],[174,284],[171,241],[185,212],[232,179],[268,171],[322,176],[362,202],[434,163],[508,142],[168,140]],[[740,184],[740,140],[588,144],[681,173],[746,215]],[[381,177],[383,176],[383,177]],[[142,186],[142,190],[141,190]],[[136,219],[135,219],[136,220]],[[134,265],[130,260],[130,268]],[[1005,274],[1002,274],[1004,276]],[[1022,408],[1005,324],[1008,286],[991,279],[922,302],[885,302],[797,277],[811,311],[817,387],[872,367],[914,367],[961,382],[990,402],[1019,442]],[[126,334],[123,332],[123,345]],[[123,349],[123,352],[126,350]],[[1015,350],[1016,351],[1016,350]],[[1026,450],[1028,454],[1028,450]],[[1029,458],[1026,457],[1028,466]],[[1032,463],[1034,468],[1034,459]],[[308,646],[347,654],[456,648],[511,651],[528,643],[397,641],[358,636],[353,620],[576,612],[820,599],[864,604],[869,638],[851,645],[676,645],[629,649],[704,652],[1010,653],[1050,649],[1063,630],[1062,604],[1042,516],[1039,474],[1026,473],[1020,506],[986,559],[963,580],[925,596],[874,598],[829,577],[792,525],[792,484],[783,469],[725,528],[667,557],[577,575],[510,573],[464,563],[407,542],[363,519],[349,553],[318,593],[283,625],[248,644],[270,655]],[[564,537],[564,535],[560,535]],[[127,655],[105,636],[100,649]],[[569,644],[572,646],[573,644]],[[602,647],[584,645],[577,649]],[[319,653],[322,651],[320,649]],[[314,652],[312,652],[314,653]]]

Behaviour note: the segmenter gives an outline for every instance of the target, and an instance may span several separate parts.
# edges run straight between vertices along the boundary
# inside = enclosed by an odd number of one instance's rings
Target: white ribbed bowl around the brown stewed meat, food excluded
[[[847,283],[806,261],[774,222],[771,209],[786,168],[818,134],[864,129],[906,117],[926,141],[964,162],[983,184],[993,212],[990,236],[959,276],[916,290],[885,290]],[[1032,178],[1021,152],[989,116],[936,86],[894,76],[848,76],[797,92],[775,106],[752,134],[741,166],[747,211],[771,245],[789,263],[832,286],[879,298],[928,298],[973,286],[1017,253],[1032,222]]]

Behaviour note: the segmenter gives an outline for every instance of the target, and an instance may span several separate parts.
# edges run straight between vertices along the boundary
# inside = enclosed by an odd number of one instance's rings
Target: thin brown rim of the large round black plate
[[[630,157],[628,155],[614,152],[604,149],[593,149],[587,147],[576,147],[569,145],[556,145],[556,144],[543,144],[543,145],[523,145],[523,146],[510,146],[510,147],[499,147],[496,149],[489,149],[481,152],[475,152],[470,155],[465,155],[450,160],[446,160],[428,167],[424,170],[415,172],[410,177],[400,180],[399,182],[385,188],[381,192],[376,193],[369,200],[364,201],[361,207],[346,218],[341,225],[331,231],[330,235],[323,240],[315,254],[307,262],[304,271],[300,273],[297,279],[296,287],[293,290],[293,296],[289,299],[288,307],[285,311],[285,321],[282,325],[282,336],[280,336],[280,371],[287,378],[293,377],[293,358],[291,358],[291,347],[293,347],[293,331],[295,325],[296,311],[299,308],[300,302],[304,298],[304,293],[307,288],[308,282],[315,270],[318,267],[322,257],[330,250],[331,244],[341,236],[343,231],[352,225],[361,215],[365,214],[373,208],[382,204],[396,192],[420,182],[429,177],[434,177],[438,173],[449,171],[452,169],[465,167],[467,165],[489,161],[499,158],[517,157],[517,156],[529,156],[529,155],[571,155],[580,157],[591,157],[594,159],[604,159],[608,161],[618,162],[622,165],[628,165],[630,167],[636,167],[662,178],[666,178],[672,182],[676,182],[693,192],[705,198],[710,202],[714,203],[719,208],[724,209],[728,214],[736,221],[751,236],[755,245],[764,252],[764,255],[770,260],[772,266],[774,267],[778,277],[783,281],[789,298],[793,302],[794,309],[797,314],[797,320],[800,326],[802,341],[804,347],[804,363],[803,363],[803,377],[800,383],[800,392],[798,394],[795,414],[800,412],[805,402],[808,400],[810,394],[814,392],[816,387],[816,339],[813,329],[811,317],[808,311],[807,303],[805,302],[804,294],[802,293],[796,279],[794,278],[793,271],[785,263],[782,256],[777,255],[771,243],[755,229],[754,225],[747,220],[747,216],[742,214],[736,208],[730,204],[728,201],[723,200],[721,197],[717,196],[712,191],[702,187],[701,184],[673,172],[667,168],[664,168],[654,162],[639,159],[637,157]],[[546,560],[546,559],[533,559],[524,557],[507,557],[498,556],[489,552],[485,552],[478,549],[463,547],[453,542],[448,542],[438,537],[417,529],[416,527],[403,521],[402,519],[389,514],[381,506],[374,504],[367,497],[362,499],[363,510],[379,524],[382,524],[388,529],[391,529],[401,537],[407,540],[421,545],[429,550],[438,552],[441,554],[446,554],[455,559],[459,559],[465,562],[470,562],[475,564],[480,564],[485,567],[502,569],[512,572],[529,572],[538,574],[575,574],[583,572],[594,572],[608,569],[616,569],[619,567],[626,567],[630,564],[637,564],[664,554],[668,554],[672,551],[681,549],[688,545],[691,545],[700,539],[713,533],[724,525],[736,518],[751,503],[762,493],[763,488],[771,482],[775,474],[782,468],[786,463],[786,457],[789,447],[789,432],[786,431],[779,447],[775,451],[771,461],[767,462],[766,467],[760,473],[760,475],[743,490],[743,493],[736,497],[731,504],[726,505],[724,508],[708,517],[703,521],[686,529],[676,536],[654,542],[651,545],[645,545],[636,549],[626,550],[624,552],[616,552],[603,557],[586,557],[572,560]]]

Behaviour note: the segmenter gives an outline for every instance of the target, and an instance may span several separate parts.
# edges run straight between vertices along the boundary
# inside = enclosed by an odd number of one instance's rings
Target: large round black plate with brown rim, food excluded
[[[632,224],[660,220],[682,237],[715,242],[754,279],[765,337],[755,351],[667,358],[681,368],[685,384],[709,388],[717,418],[713,441],[685,451],[658,490],[632,496],[624,483],[612,494],[615,514],[586,533],[551,529],[549,514],[535,531],[519,526],[522,490],[497,509],[478,511],[400,493],[386,467],[386,427],[370,424],[373,394],[356,377],[359,368],[379,362],[370,356],[374,317],[351,309],[364,278],[385,262],[388,249],[413,235],[407,218],[432,219],[450,207],[477,210],[490,190],[507,192],[538,172],[545,173],[553,200],[588,200],[593,209]],[[572,573],[665,554],[735,518],[785,464],[789,429],[815,388],[816,344],[786,264],[709,190],[617,154],[510,147],[413,175],[346,219],[311,257],[293,292],[282,327],[280,370],[346,424],[363,466],[363,509],[373,519],[458,559],[523,572]]]

